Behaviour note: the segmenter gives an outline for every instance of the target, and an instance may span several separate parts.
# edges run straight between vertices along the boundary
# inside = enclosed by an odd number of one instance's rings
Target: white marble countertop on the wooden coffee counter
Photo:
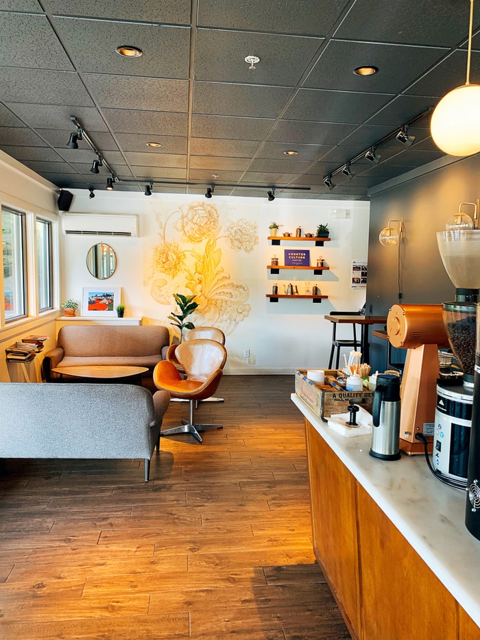
[[[424,456],[402,454],[393,461],[373,458],[368,453],[371,436],[341,436],[295,393],[291,399],[480,626],[480,541],[465,526],[466,492],[436,480]]]

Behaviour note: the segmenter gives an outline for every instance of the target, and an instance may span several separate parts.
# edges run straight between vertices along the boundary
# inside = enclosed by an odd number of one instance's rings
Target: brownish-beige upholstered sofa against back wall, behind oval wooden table
[[[57,346],[43,359],[47,382],[60,378],[56,367],[91,365],[130,365],[148,367],[142,384],[154,391],[152,372],[157,362],[165,359],[169,346],[169,330],[160,325],[125,326],[88,325],[62,327]]]

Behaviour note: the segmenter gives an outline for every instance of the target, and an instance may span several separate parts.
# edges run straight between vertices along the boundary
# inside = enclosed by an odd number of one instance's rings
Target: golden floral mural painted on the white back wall
[[[234,332],[251,306],[247,284],[232,278],[229,254],[252,254],[259,245],[256,222],[236,218],[235,207],[210,202],[152,201],[144,207],[154,214],[158,238],[145,256],[143,284],[152,298],[171,307],[174,293],[193,294],[196,325]]]

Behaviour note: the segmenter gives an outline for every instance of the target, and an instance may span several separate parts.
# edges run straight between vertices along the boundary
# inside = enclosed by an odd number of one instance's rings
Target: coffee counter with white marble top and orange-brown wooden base
[[[480,541],[466,493],[424,456],[379,460],[293,393],[305,418],[313,547],[353,638],[480,638]]]

